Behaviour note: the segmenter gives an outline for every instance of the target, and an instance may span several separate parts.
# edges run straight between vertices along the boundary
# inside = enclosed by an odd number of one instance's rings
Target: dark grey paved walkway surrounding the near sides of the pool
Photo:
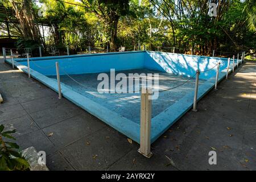
[[[22,149],[46,151],[51,170],[256,170],[255,67],[247,62],[207,94],[198,112],[189,111],[152,144],[151,159],[138,154],[137,143],[3,61],[0,123],[18,131]],[[217,165],[208,163],[211,150]]]

